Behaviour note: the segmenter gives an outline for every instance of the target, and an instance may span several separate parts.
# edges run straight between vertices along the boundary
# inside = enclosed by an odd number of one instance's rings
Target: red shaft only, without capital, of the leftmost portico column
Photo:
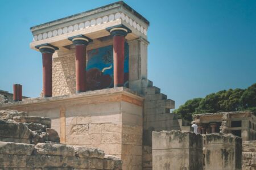
[[[52,96],[52,53],[42,53],[43,57],[43,96]]]

